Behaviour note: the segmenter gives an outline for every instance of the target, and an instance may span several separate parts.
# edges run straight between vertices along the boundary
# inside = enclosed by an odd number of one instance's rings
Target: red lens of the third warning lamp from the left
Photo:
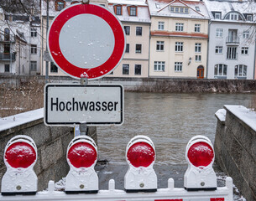
[[[154,162],[154,149],[146,142],[134,143],[127,152],[128,161],[132,163],[135,168],[149,167]]]

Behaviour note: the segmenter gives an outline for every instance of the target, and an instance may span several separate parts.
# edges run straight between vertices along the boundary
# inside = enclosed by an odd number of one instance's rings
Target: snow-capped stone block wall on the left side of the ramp
[[[0,181],[6,172],[4,147],[16,135],[32,137],[37,146],[38,160],[34,171],[39,178],[39,190],[45,189],[49,180],[57,182],[68,173],[70,168],[66,162],[66,150],[74,137],[74,129],[45,126],[43,116],[43,109],[39,109],[0,119]],[[97,142],[96,127],[89,127],[88,136]]]

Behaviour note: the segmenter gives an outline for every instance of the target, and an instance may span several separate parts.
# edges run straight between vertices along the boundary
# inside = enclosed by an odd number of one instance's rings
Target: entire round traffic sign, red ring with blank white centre
[[[96,4],[76,3],[63,9],[50,25],[48,49],[55,64],[75,79],[99,79],[123,59],[122,23]]]

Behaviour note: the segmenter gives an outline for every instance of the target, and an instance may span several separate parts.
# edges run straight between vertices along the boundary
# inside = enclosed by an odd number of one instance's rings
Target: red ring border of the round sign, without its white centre
[[[76,64],[71,64],[60,49],[61,28],[63,28],[68,20],[81,14],[91,14],[102,18],[112,29],[114,36],[114,48],[110,57],[103,64],[91,69],[81,68],[76,66]],[[86,24],[81,24],[81,26],[86,26]],[[122,23],[107,8],[96,4],[74,4],[62,10],[50,25],[47,41],[50,57],[55,61],[55,64],[60,70],[73,78],[80,79],[81,77],[87,77],[89,80],[99,79],[111,73],[123,59],[126,44]],[[69,43],[72,42],[69,41]]]

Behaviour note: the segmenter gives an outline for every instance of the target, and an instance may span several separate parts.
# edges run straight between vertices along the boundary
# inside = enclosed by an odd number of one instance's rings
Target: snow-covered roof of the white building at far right
[[[221,12],[222,19],[226,16],[229,12],[238,12],[241,14],[253,14],[253,18],[256,18],[256,3],[253,1],[212,1],[212,0],[205,0],[206,7],[209,11],[210,18],[214,19],[212,12]]]

